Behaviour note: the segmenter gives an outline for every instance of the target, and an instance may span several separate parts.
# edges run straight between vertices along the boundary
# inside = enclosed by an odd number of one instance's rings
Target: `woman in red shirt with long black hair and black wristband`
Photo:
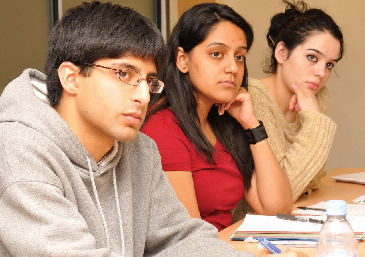
[[[242,198],[260,214],[292,210],[288,178],[246,90],[252,41],[250,24],[227,5],[186,11],[168,40],[166,88],[151,98],[142,128],[192,218],[218,230]]]

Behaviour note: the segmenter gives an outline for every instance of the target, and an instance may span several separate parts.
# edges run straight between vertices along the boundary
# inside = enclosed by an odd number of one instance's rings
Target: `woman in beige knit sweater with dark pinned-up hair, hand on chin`
[[[318,189],[326,174],[337,125],[327,116],[330,98],[324,84],[342,58],[343,36],[322,10],[310,9],[303,1],[285,3],[285,12],[273,16],[266,36],[271,74],[251,79],[248,91],[295,202]]]

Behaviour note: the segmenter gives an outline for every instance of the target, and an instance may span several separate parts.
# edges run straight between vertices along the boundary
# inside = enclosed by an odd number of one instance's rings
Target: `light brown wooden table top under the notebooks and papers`
[[[321,179],[322,186],[319,190],[313,191],[310,197],[300,197],[296,203],[293,204],[293,211],[297,206],[308,206],[319,203],[320,201],[328,200],[345,200],[349,204],[353,204],[355,198],[365,194],[365,185],[337,182],[331,176],[337,176],[342,174],[364,172],[365,169],[357,168],[337,168],[327,173],[325,177]],[[365,213],[364,213],[365,215]],[[242,220],[232,224],[219,232],[219,238],[233,245],[236,250],[247,250],[258,254],[262,248],[258,248],[258,243],[245,243],[243,241],[230,240],[234,231],[242,224]],[[315,247],[291,247],[291,250],[304,252],[308,256],[315,256]],[[365,257],[365,240],[361,240],[358,243],[358,257]]]

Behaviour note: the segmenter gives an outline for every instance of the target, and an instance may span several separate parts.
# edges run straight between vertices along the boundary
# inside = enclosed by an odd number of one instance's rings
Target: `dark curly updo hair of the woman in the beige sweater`
[[[266,73],[274,73],[277,68],[275,58],[276,45],[284,42],[290,55],[296,46],[303,44],[308,37],[318,32],[328,31],[337,38],[341,44],[338,60],[343,55],[343,35],[334,20],[320,9],[311,9],[304,1],[290,3],[283,0],[287,7],[285,12],[278,13],[271,19],[270,28],[266,39],[271,49],[271,58],[268,60]]]

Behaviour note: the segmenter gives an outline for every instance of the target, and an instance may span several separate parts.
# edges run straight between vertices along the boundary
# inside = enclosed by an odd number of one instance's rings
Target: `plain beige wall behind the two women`
[[[177,1],[182,4],[181,0]],[[201,1],[195,1],[200,3]],[[266,57],[265,34],[270,18],[285,6],[281,0],[216,0],[227,4],[253,26],[255,40],[247,55],[249,75],[263,78],[261,63]],[[327,82],[331,94],[331,117],[338,124],[327,161],[327,170],[335,167],[365,167],[365,1],[306,0],[311,7],[322,8],[342,28],[345,55]],[[192,5],[191,1],[189,2]],[[172,14],[176,10],[170,10]],[[175,18],[176,16],[171,15]],[[177,19],[177,18],[176,18]],[[172,19],[174,24],[176,20]]]

